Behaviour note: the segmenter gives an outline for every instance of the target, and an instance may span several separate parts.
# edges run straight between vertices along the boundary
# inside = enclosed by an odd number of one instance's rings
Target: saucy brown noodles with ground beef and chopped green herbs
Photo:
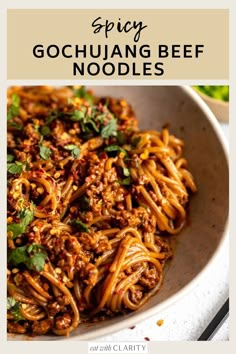
[[[184,142],[124,99],[8,90],[8,331],[69,335],[161,287],[196,192]]]

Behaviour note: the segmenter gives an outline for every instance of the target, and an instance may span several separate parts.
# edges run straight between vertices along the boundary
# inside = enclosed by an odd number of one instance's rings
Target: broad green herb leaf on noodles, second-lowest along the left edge
[[[25,264],[30,270],[42,271],[47,254],[44,247],[33,243],[10,250],[8,262],[13,265]]]

